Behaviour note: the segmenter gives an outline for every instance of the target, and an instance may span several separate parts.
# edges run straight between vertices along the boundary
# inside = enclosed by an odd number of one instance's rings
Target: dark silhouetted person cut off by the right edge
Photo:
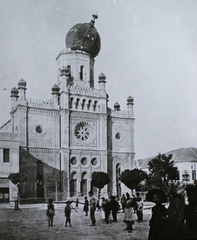
[[[197,239],[197,186],[186,187],[189,204],[185,209],[188,239]]]

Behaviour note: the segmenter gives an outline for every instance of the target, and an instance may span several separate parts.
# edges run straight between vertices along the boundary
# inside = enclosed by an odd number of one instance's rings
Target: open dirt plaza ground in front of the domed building
[[[118,221],[106,224],[101,219],[101,212],[96,211],[96,226],[90,226],[89,216],[85,216],[83,205],[77,212],[72,210],[72,227],[65,227],[65,204],[55,203],[54,226],[48,227],[47,204],[20,205],[21,212],[13,211],[13,206],[0,205],[0,240],[145,240],[148,238],[148,222],[151,210],[144,210],[144,221],[135,222],[134,230],[128,233],[123,222],[124,213],[118,213]],[[74,204],[73,204],[74,206]]]

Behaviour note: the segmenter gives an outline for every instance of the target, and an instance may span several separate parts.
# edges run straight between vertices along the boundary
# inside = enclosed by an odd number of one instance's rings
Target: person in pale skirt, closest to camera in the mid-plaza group
[[[130,197],[130,194],[126,193],[126,205],[125,205],[125,215],[123,222],[126,223],[125,230],[128,232],[133,231],[133,224],[134,224],[134,213],[133,213],[134,201]]]

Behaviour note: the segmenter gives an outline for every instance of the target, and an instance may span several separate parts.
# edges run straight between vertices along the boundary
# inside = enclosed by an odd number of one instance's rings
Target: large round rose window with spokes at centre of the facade
[[[78,141],[87,141],[92,133],[92,127],[87,122],[79,122],[74,129],[75,137]]]

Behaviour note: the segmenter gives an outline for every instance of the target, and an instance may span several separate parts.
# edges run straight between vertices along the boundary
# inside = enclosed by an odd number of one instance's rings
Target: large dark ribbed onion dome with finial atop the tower
[[[100,35],[94,27],[97,15],[92,15],[90,23],[78,23],[66,34],[66,47],[71,50],[81,50],[95,58],[101,49]]]

